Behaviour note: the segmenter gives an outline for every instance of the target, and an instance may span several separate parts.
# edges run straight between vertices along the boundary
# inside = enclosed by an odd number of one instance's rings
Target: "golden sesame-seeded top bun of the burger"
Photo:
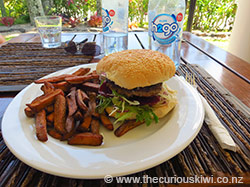
[[[175,74],[174,62],[165,54],[149,49],[132,49],[112,53],[99,61],[98,74],[116,85],[133,89],[161,83]]]

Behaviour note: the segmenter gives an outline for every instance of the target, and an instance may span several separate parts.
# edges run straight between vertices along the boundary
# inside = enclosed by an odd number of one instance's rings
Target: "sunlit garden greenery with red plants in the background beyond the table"
[[[130,29],[147,29],[148,1],[129,0]],[[184,30],[187,28],[190,1],[186,0]],[[42,6],[39,9],[40,13],[37,12],[38,15],[61,15],[64,26],[67,27],[77,27],[79,24],[100,27],[102,24],[101,0],[0,0],[0,25],[11,27],[12,25],[31,23],[34,15],[32,11],[34,10],[29,7],[34,3]],[[230,33],[236,11],[237,0],[197,0],[192,30],[203,33]],[[228,43],[225,37],[209,37],[208,34],[204,38],[223,48]]]

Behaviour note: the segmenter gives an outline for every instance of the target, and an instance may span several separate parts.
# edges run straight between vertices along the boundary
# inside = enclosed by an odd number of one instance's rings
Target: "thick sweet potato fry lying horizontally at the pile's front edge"
[[[94,134],[91,132],[84,132],[75,134],[68,140],[70,145],[93,145],[98,146],[102,144],[103,137],[100,134]]]

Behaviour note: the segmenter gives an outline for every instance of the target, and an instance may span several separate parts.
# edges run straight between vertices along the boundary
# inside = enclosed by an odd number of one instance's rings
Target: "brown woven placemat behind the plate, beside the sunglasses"
[[[46,49],[41,43],[8,43],[0,48],[0,92],[20,91],[49,73],[92,59],[69,54],[63,47]]]

